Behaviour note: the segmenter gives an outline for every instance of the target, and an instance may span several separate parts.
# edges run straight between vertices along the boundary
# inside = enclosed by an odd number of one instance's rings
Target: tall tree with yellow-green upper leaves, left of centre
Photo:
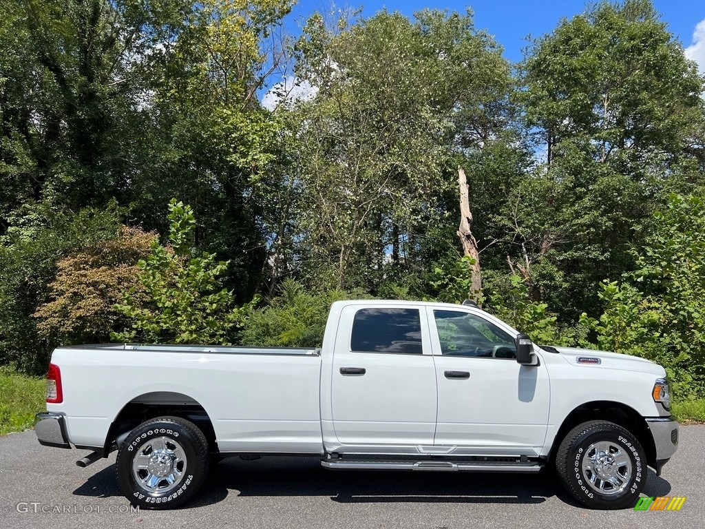
[[[266,281],[266,248],[279,218],[278,116],[257,96],[286,59],[278,26],[290,0],[207,0],[159,52],[149,72],[154,130],[149,171],[132,179],[133,215],[164,233],[156,214],[171,197],[192,205],[197,245],[231,265],[224,281],[240,302]]]

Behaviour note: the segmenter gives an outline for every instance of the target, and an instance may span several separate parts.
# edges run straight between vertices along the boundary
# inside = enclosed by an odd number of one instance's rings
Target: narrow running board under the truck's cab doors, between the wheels
[[[427,472],[539,472],[542,463],[472,463],[458,461],[321,461],[330,470],[424,470]]]

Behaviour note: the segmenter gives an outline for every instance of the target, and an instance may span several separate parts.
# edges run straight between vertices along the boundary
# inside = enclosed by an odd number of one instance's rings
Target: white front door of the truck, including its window
[[[512,333],[470,308],[427,308],[438,379],[435,446],[535,456],[548,424],[546,367],[520,365]]]

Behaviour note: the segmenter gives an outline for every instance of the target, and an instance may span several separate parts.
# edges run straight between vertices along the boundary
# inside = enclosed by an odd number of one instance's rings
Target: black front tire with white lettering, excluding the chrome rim
[[[629,485],[618,494],[600,494],[587,483],[582,471],[585,452],[596,442],[613,442],[620,446],[632,462],[632,477]],[[563,464],[566,465],[565,479],[571,482],[577,492],[577,499],[588,506],[601,509],[620,509],[635,504],[646,482],[646,460],[641,444],[627,430],[618,425],[592,427],[580,434],[568,449]]]

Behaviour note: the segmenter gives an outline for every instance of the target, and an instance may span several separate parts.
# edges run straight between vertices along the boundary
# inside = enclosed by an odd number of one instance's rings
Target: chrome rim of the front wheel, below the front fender
[[[587,485],[600,494],[611,496],[629,487],[632,460],[623,448],[611,441],[591,444],[582,456],[582,474]]]

